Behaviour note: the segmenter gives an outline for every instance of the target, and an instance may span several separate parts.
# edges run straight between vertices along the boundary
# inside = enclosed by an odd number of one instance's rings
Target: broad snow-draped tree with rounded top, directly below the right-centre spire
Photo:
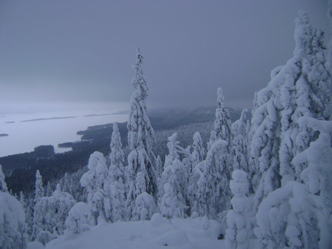
[[[232,156],[227,152],[228,142],[217,140],[207,152],[203,173],[197,183],[198,213],[216,218],[216,215],[230,207],[231,192],[229,181],[232,167],[229,164]]]

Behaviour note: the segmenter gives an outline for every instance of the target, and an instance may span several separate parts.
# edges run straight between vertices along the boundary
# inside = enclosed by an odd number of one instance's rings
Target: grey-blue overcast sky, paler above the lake
[[[136,48],[148,107],[252,107],[294,50],[294,19],[325,31],[327,2],[0,0],[0,105],[125,103]]]

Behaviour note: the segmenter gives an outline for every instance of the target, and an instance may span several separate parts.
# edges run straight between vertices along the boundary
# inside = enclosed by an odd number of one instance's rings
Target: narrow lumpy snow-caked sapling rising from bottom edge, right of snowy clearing
[[[227,212],[227,226],[225,246],[227,249],[247,249],[249,245],[250,209],[248,193],[249,183],[247,173],[243,170],[234,170],[229,187],[234,195],[230,201],[232,209]]]

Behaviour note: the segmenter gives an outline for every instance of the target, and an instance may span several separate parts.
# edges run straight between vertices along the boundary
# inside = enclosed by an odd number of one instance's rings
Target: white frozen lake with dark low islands
[[[49,144],[54,146],[55,153],[68,151],[70,148],[58,148],[57,145],[80,140],[77,131],[86,130],[92,125],[126,122],[128,114],[113,114],[118,111],[121,110],[1,115],[0,134],[8,136],[0,136],[0,157],[30,152],[39,145]]]

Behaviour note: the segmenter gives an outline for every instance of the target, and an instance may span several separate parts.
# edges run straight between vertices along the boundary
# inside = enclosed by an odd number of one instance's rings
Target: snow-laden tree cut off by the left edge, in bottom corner
[[[0,248],[25,249],[28,236],[24,210],[21,203],[8,193],[4,180],[0,165]]]

